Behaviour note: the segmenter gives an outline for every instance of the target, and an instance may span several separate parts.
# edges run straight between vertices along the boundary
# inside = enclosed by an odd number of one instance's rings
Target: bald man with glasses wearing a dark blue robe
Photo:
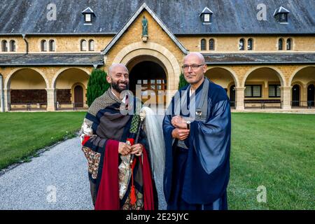
[[[167,209],[228,209],[230,101],[204,76],[200,53],[187,55],[182,68],[188,85],[176,92],[163,120]]]

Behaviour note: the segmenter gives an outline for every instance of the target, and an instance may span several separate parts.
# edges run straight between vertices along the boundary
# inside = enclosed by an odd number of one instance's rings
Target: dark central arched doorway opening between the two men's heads
[[[130,66],[132,66],[131,63]],[[136,95],[136,85],[141,85],[141,100],[150,104],[166,105],[167,75],[158,62],[141,61],[130,70],[130,90]]]

